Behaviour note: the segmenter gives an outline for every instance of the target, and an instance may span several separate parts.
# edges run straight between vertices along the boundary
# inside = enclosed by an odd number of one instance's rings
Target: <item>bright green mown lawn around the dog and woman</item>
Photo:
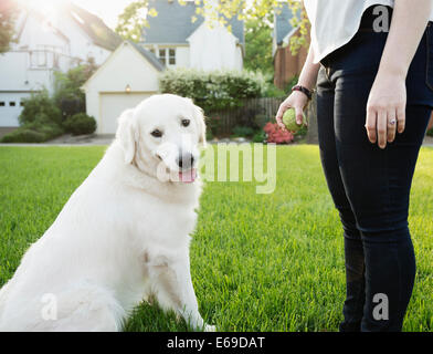
[[[0,147],[0,285],[50,227],[105,147]],[[336,331],[345,295],[342,236],[318,148],[277,149],[277,188],[209,183],[191,244],[200,311],[222,331]],[[433,149],[416,168],[410,226],[418,277],[405,331],[433,329]],[[127,331],[183,331],[141,305]]]

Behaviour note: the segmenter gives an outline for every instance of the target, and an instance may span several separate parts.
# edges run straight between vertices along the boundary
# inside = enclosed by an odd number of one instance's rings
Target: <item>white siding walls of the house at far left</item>
[[[20,103],[32,92],[45,87],[53,93],[55,71],[66,72],[89,58],[101,65],[112,53],[94,44],[70,15],[63,13],[53,21],[49,24],[32,11],[19,15],[19,42],[0,54],[0,127],[19,126]]]

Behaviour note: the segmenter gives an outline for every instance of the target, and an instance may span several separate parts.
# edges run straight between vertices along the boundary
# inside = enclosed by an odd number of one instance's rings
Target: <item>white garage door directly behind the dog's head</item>
[[[134,108],[152,93],[102,93],[101,94],[101,134],[114,134],[117,129],[117,118],[122,112]]]

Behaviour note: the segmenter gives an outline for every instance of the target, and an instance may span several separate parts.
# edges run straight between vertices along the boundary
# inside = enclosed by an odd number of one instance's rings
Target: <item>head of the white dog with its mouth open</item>
[[[197,176],[199,144],[205,144],[203,111],[190,98],[154,95],[122,114],[116,139],[126,164],[159,179],[177,176],[175,180],[191,183]]]

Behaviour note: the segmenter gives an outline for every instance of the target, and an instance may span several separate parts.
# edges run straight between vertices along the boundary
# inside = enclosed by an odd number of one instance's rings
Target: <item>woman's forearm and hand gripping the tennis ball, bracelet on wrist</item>
[[[320,69],[320,64],[314,64],[313,60],[314,60],[313,46],[309,46],[308,55],[303,66],[303,71],[300,72],[299,81],[298,81],[299,85],[303,85],[309,90],[313,90],[315,87],[317,81],[317,74]],[[299,125],[303,124],[303,111],[307,103],[308,103],[308,97],[304,93],[299,91],[293,92],[279,105],[278,112],[276,114],[276,122],[278,123],[279,127],[282,129],[286,128],[282,122],[282,118],[284,112],[286,112],[291,107],[295,108],[296,111],[296,123]]]

